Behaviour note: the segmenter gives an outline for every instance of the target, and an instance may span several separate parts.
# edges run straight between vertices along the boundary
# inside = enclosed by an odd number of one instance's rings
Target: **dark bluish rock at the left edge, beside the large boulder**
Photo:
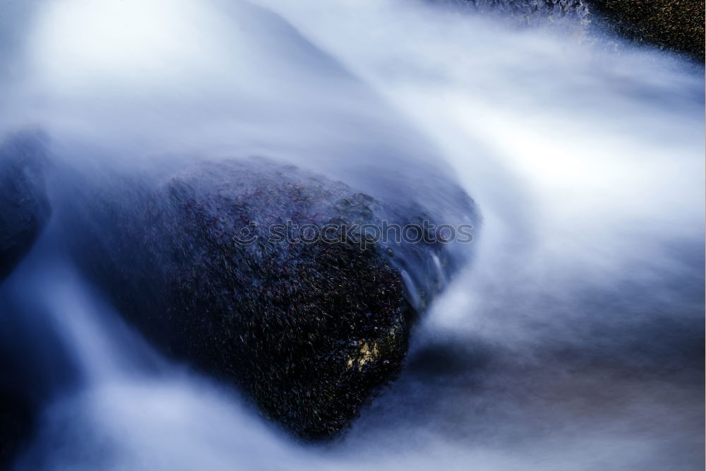
[[[46,138],[16,133],[0,145],[0,280],[27,254],[49,218]]]

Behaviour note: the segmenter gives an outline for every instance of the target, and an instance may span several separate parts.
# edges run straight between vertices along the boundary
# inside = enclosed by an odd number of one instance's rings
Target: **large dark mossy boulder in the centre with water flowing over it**
[[[156,185],[126,179],[90,200],[69,224],[76,258],[119,311],[304,439],[345,427],[400,371],[415,316],[462,263],[431,238],[364,243],[364,229],[328,226],[326,240],[309,243],[270,239],[270,227],[287,222],[421,228],[429,217],[421,205],[388,205],[274,162],[201,162]]]

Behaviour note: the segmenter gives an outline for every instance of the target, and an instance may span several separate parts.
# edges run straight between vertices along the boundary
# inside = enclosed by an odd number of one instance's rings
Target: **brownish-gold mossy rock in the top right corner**
[[[704,60],[704,0],[586,0],[602,23],[630,40]]]

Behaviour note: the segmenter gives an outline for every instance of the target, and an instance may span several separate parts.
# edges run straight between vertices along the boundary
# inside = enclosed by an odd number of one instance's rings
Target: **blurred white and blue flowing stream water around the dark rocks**
[[[0,129],[95,179],[264,155],[448,217],[453,174],[484,216],[400,377],[319,446],[152,351],[50,224],[0,286],[51,398],[18,469],[702,467],[702,66],[411,0],[0,6]],[[59,214],[77,185],[49,181]]]

